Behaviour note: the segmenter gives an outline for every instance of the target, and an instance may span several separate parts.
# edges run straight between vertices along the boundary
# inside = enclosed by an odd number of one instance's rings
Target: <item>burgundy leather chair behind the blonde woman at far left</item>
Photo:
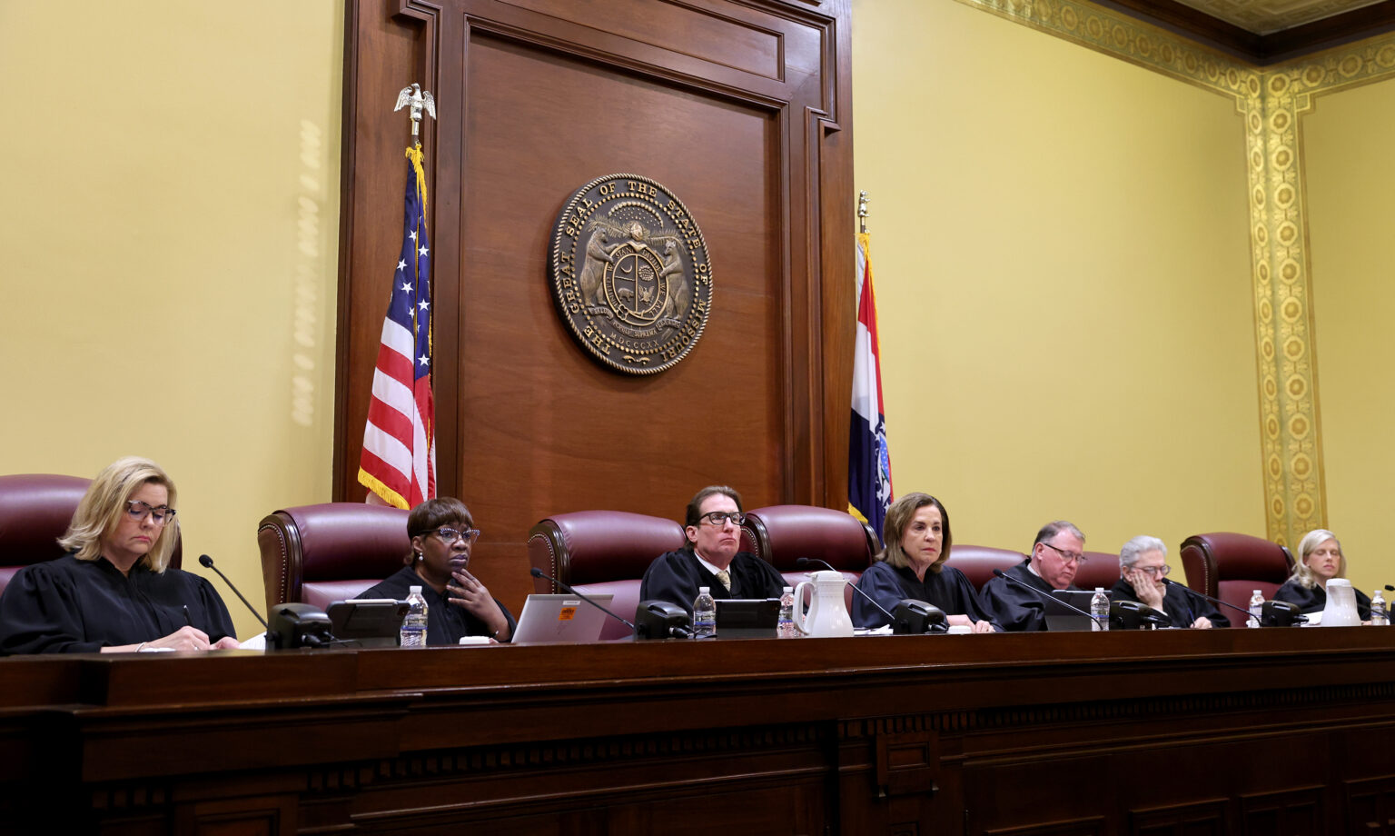
[[[24,567],[63,557],[59,537],[91,482],[54,473],[0,476],[0,592]],[[181,557],[176,540],[170,565],[179,568]]]

